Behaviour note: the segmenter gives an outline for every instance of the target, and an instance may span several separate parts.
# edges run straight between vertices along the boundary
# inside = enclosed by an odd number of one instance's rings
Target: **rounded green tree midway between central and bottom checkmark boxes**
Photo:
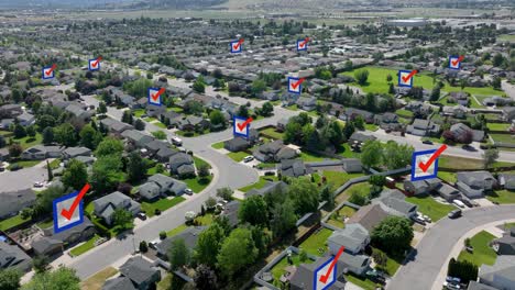
[[[318,188],[307,178],[292,180],[288,187],[288,197],[292,199],[295,213],[298,215],[315,212],[318,208]]]

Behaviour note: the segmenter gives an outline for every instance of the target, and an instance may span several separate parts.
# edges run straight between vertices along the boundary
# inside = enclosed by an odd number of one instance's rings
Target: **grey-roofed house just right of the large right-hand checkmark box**
[[[482,198],[485,191],[497,186],[497,180],[489,171],[457,172],[457,188],[470,199]]]

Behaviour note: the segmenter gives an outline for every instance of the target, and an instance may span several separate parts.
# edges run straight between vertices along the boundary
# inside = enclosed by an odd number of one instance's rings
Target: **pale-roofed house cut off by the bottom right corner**
[[[479,270],[479,282],[495,289],[515,289],[515,259],[511,255],[497,256],[495,264],[483,264]]]

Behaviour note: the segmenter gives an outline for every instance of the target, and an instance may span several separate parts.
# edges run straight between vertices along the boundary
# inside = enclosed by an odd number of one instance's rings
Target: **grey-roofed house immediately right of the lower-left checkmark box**
[[[141,211],[140,203],[133,201],[120,191],[114,191],[106,197],[94,200],[94,207],[95,215],[102,217],[109,225],[112,223],[112,215],[116,210],[123,209],[134,215]]]

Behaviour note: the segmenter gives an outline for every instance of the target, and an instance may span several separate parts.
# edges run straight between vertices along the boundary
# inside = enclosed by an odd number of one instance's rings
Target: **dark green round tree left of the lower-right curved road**
[[[408,249],[414,237],[408,219],[388,216],[372,230],[371,241],[377,248],[390,254],[402,254]]]

